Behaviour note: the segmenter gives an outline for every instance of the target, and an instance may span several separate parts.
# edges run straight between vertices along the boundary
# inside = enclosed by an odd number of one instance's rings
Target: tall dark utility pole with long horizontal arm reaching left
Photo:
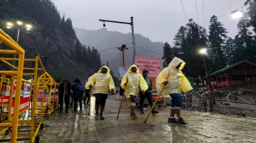
[[[135,38],[134,38],[134,22],[133,22],[133,17],[131,17],[131,22],[130,23],[127,23],[127,22],[122,22],[122,21],[109,21],[109,20],[103,20],[103,19],[100,19],[99,21],[102,21],[103,22],[103,26],[105,27],[105,22],[109,22],[109,23],[120,23],[120,24],[129,24],[131,25],[132,27],[132,44],[134,46],[134,59],[133,59],[133,64],[134,64],[134,60],[135,60],[135,57],[136,57],[136,51],[135,51]]]

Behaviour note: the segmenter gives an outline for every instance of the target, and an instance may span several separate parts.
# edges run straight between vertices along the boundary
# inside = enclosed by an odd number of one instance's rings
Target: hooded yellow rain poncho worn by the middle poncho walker
[[[137,68],[136,73],[132,72],[132,67]],[[127,74],[124,74],[124,77],[121,81],[122,88],[125,88],[125,83],[127,83],[127,87],[124,93],[125,96],[137,96],[139,93],[139,88],[141,91],[146,91],[149,88],[142,74],[139,74],[139,69],[135,64],[132,64],[132,66],[129,67]]]

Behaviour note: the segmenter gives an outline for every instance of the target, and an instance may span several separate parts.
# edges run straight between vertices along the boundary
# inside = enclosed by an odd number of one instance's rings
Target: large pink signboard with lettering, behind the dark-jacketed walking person
[[[135,64],[142,73],[144,69],[149,71],[149,77],[157,77],[161,72],[161,59],[156,57],[135,57]]]

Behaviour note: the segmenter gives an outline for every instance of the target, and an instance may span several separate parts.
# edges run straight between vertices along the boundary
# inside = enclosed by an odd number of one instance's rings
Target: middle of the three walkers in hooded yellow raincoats
[[[139,94],[139,89],[144,94],[149,88],[142,74],[139,74],[139,69],[135,64],[127,70],[121,81],[122,88],[125,89],[124,95],[131,98],[131,115],[130,118],[136,119],[137,115],[134,113],[136,105],[136,96]]]

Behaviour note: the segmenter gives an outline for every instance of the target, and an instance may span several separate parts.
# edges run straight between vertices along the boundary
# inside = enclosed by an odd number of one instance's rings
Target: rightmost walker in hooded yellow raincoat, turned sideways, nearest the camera
[[[186,122],[181,118],[181,90],[186,93],[193,88],[186,76],[182,73],[182,69],[186,63],[178,57],[171,60],[168,67],[163,69],[156,79],[156,88],[160,92],[163,88],[161,96],[171,96],[171,116],[169,123],[177,123],[186,125]],[[176,114],[177,118],[174,118]]]

